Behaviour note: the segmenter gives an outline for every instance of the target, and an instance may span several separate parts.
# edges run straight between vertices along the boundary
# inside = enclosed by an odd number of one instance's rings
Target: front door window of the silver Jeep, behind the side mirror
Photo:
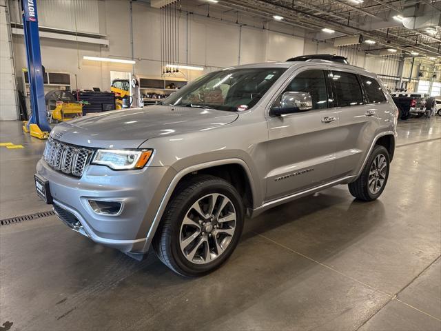
[[[300,72],[286,88],[285,92],[309,92],[312,109],[328,108],[325,72],[323,70],[306,70]]]

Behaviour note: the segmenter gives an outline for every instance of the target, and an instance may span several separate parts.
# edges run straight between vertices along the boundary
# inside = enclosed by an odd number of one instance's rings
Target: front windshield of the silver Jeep
[[[211,72],[163,101],[163,105],[247,110],[252,108],[285,68],[250,68]]]

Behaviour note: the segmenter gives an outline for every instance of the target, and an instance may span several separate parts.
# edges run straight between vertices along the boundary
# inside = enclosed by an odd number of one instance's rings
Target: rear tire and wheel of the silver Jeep
[[[373,163],[376,162],[376,165],[378,165],[379,160],[384,160],[386,162],[386,168],[384,172],[379,171],[378,173],[376,173],[376,175],[380,174],[382,175],[382,177],[381,176],[371,177],[373,175],[371,173],[372,167],[375,167]],[[380,163],[380,165],[382,165],[382,163]],[[362,201],[373,201],[378,197],[380,197],[384,188],[386,187],[387,179],[389,177],[389,165],[390,165],[389,152],[387,152],[387,149],[384,148],[384,146],[376,145],[375,148],[373,148],[371,155],[369,155],[365,168],[363,168],[360,177],[358,177],[356,181],[353,181],[352,183],[348,184],[349,192],[351,192],[353,197],[356,197],[356,199]],[[371,183],[371,178],[373,178],[374,182],[376,181],[377,178],[377,183],[380,183],[382,180],[382,183],[380,185],[380,188],[378,188],[378,190],[372,190],[373,188],[369,188],[369,183]]]

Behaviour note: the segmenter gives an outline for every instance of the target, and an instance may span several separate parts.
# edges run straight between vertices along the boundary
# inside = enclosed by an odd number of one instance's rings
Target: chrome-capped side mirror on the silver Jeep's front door
[[[280,116],[312,109],[312,98],[308,92],[284,92],[269,110],[270,116]]]

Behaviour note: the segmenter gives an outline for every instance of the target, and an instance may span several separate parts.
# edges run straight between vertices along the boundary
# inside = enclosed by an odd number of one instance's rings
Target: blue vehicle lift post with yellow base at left
[[[51,128],[44,100],[37,0],[21,0],[21,9],[23,10],[23,30],[28,58],[30,106],[32,108],[32,114],[29,121],[24,123],[23,131],[30,132],[32,137],[46,139]]]

